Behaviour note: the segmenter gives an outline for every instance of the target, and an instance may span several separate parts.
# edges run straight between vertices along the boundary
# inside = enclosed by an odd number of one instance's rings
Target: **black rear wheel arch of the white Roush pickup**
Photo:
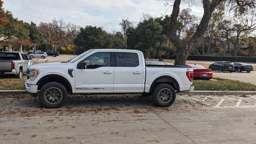
[[[175,78],[173,78],[172,76],[159,76],[152,82],[149,92],[152,92],[154,86],[159,83],[170,84],[174,88],[174,90],[177,90],[177,92],[180,91],[180,85]]]

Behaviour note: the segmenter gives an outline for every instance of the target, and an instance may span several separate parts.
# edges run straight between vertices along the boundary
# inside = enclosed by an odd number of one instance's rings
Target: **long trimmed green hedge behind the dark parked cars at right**
[[[170,56],[170,59],[175,59],[176,55]],[[208,60],[208,61],[231,61],[231,62],[256,62],[256,57],[247,56],[200,56],[190,55],[188,60]]]

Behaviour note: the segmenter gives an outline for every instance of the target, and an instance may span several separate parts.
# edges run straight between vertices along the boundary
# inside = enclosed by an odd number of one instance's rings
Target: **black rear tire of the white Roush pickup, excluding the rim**
[[[172,97],[171,99],[164,103],[160,100],[158,93],[163,89],[163,88],[167,88],[168,90],[170,90]],[[176,92],[174,90],[174,88],[172,86],[170,86],[169,84],[158,84],[153,88],[152,91],[152,100],[153,102],[160,107],[167,107],[173,104],[174,100],[176,98]]]

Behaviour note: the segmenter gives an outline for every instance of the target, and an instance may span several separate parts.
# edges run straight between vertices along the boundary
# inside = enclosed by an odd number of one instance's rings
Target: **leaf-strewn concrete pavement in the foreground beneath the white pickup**
[[[0,143],[255,143],[256,95],[177,96],[168,108],[140,94],[72,95],[46,109],[0,96]]]

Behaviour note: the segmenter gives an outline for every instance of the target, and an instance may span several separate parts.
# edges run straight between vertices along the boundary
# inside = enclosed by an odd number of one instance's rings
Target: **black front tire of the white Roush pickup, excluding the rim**
[[[44,99],[44,92],[51,87],[55,87],[55,88],[59,88],[62,92],[62,99],[60,99],[60,102],[58,102],[57,104],[49,104],[48,102],[46,102],[46,100]],[[40,102],[46,107],[46,108],[59,108],[60,106],[62,106],[68,97],[68,92],[67,89],[65,88],[65,86],[59,82],[48,82],[47,84],[45,84],[40,92],[39,92],[39,100]]]

